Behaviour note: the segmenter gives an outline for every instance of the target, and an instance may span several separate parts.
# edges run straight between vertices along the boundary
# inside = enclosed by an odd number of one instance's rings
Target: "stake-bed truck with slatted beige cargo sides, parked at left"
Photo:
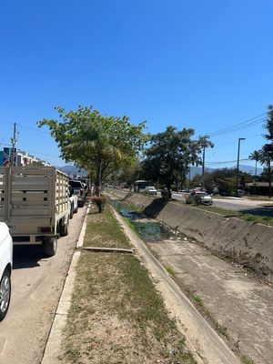
[[[0,167],[0,221],[14,245],[43,245],[54,256],[68,234],[68,176],[55,167]]]

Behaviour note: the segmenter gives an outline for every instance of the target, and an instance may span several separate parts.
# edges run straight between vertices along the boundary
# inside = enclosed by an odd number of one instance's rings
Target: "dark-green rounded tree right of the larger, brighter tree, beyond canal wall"
[[[183,128],[178,131],[174,126],[167,126],[166,131],[151,136],[150,147],[145,151],[146,158],[142,162],[148,179],[164,183],[170,192],[171,185],[177,176],[187,176],[189,166],[200,165],[199,156],[203,147],[212,147],[207,136],[193,140],[194,129]]]

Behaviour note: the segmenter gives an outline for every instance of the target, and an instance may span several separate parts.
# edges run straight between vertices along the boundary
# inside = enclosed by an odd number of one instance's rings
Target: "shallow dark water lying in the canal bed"
[[[145,241],[180,240],[182,238],[182,235],[176,230],[160,224],[151,218],[147,218],[141,212],[130,210],[129,207],[126,207],[126,205],[119,201],[112,200],[111,204],[120,215],[129,220],[130,225],[136,230],[139,237]]]

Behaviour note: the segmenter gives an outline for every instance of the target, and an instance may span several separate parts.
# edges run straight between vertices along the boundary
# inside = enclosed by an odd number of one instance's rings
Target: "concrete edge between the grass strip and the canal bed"
[[[114,207],[112,207],[112,209],[114,211],[116,220],[119,222],[121,227],[123,227],[127,238],[129,238],[130,242],[135,246],[136,252],[138,253],[145,267],[150,273],[152,270],[154,270],[154,273],[152,273],[152,278],[159,291],[164,295],[165,289],[163,288],[163,277],[165,277],[169,284],[167,296],[173,297],[176,300],[175,305],[177,307],[181,308],[183,306],[184,316],[182,318],[177,315],[177,326],[179,327],[181,333],[187,338],[187,347],[192,352],[194,358],[197,360],[197,363],[206,364],[209,362],[211,364],[239,364],[240,360],[235,355],[235,353],[229,349],[224,339],[222,339],[217,334],[215,329],[213,329],[208,324],[207,320],[203,318],[203,316],[198,312],[197,308],[195,308],[195,306],[190,302],[181,289],[178,288],[177,283],[173,280],[173,278],[171,278],[167,272],[167,269],[157,260],[157,258],[153,256],[141,238],[136,235],[136,232],[128,227],[126,221],[116,211],[116,209]],[[171,312],[173,303],[169,305],[167,304],[167,299],[165,299],[165,304],[169,312]],[[190,333],[189,326],[183,323],[183,319],[186,319],[187,323],[190,322],[190,324],[196,328],[198,328],[196,325],[197,321],[201,323],[200,328],[202,328],[202,332],[199,333],[199,336],[193,336],[192,333]]]

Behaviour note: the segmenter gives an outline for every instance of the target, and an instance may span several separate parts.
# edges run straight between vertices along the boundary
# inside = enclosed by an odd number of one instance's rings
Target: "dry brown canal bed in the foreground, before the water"
[[[254,279],[251,272],[211,255],[187,238],[148,245],[241,358],[255,364],[272,363],[270,284]]]

